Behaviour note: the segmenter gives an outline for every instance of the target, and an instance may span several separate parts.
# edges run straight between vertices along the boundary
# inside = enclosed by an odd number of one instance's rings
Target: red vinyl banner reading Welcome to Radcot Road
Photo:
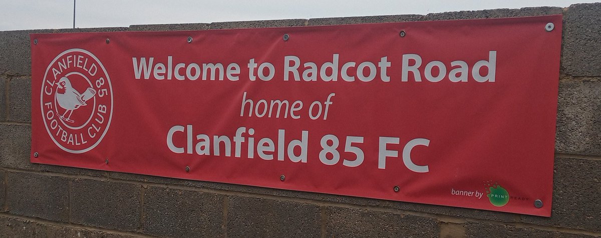
[[[32,34],[31,162],[550,216],[561,21]]]

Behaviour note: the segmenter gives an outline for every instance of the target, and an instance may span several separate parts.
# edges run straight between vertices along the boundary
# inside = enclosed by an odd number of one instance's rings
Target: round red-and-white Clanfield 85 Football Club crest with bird
[[[46,131],[66,152],[94,149],[111,125],[111,79],[87,50],[69,49],[56,56],[46,68],[40,94]]]

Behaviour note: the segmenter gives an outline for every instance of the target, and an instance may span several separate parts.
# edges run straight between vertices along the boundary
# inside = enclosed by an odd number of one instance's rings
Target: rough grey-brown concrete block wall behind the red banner
[[[0,237],[601,237],[601,4],[0,32]],[[31,164],[30,33],[563,14],[551,218]],[[526,181],[525,181],[526,182]]]

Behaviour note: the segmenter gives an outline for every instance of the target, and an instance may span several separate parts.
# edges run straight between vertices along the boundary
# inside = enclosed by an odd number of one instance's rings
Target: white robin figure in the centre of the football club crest
[[[63,115],[59,115],[59,118],[66,120],[67,122],[74,122],[71,120],[71,115],[73,114],[73,110],[79,109],[81,106],[86,106],[86,101],[90,100],[96,95],[96,90],[93,88],[88,88],[84,91],[83,94],[80,94],[76,91],[73,86],[71,86],[71,82],[67,77],[62,77],[58,80],[58,86],[56,87],[56,102],[58,106],[65,109],[65,113]],[[65,115],[69,113],[69,116],[65,118]]]

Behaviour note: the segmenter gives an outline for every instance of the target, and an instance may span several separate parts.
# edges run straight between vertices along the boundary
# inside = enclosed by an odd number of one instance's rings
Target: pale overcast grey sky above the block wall
[[[0,6],[3,8],[0,15],[0,31],[73,28],[73,2],[73,0],[0,0]],[[581,2],[591,1],[76,0],[75,27],[99,28],[168,23],[428,14],[496,8],[569,7],[571,4]]]

